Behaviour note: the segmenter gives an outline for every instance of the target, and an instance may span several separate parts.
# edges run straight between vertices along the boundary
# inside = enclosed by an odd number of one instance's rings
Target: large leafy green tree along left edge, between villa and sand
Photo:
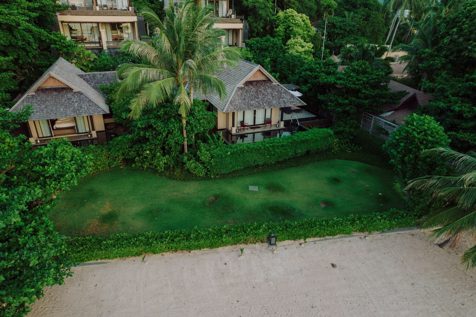
[[[43,287],[70,276],[64,237],[48,214],[58,194],[89,171],[87,156],[66,139],[32,150],[25,136],[13,137],[14,123],[29,116],[28,108],[19,114],[0,108],[1,316],[23,316]]]

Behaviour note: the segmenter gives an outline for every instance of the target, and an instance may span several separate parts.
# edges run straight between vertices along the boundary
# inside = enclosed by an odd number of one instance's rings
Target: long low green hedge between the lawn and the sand
[[[233,226],[179,229],[163,232],[116,234],[108,237],[73,237],[67,241],[73,263],[99,259],[137,257],[178,250],[219,248],[265,242],[269,233],[278,241],[350,235],[352,232],[384,231],[414,226],[417,212],[390,209],[386,212],[350,215],[344,218],[311,218],[297,221],[238,224]]]

